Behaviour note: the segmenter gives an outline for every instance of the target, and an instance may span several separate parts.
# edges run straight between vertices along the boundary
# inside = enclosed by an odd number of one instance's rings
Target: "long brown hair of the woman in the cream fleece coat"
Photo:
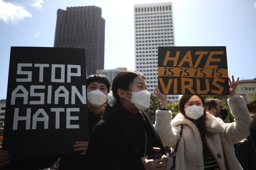
[[[196,95],[196,94],[195,94]],[[180,110],[180,113],[187,119],[190,119],[189,117],[186,116],[185,114],[185,110],[184,110],[184,105],[185,103],[187,103],[187,101],[190,99],[190,97],[192,97],[194,95],[182,95],[182,97],[180,98],[180,102],[179,102],[179,110]],[[202,103],[203,103],[203,106],[205,107],[205,100],[204,100],[204,97],[202,95],[197,95],[201,100],[202,100]],[[200,117],[198,119],[198,122],[197,122],[197,128],[200,132],[200,136],[201,136],[201,140],[202,140],[202,144],[203,144],[203,152],[204,152],[204,155],[208,155],[210,153],[207,145],[206,145],[206,139],[205,139],[205,134],[208,134],[208,131],[206,129],[206,125],[205,125],[205,121],[207,120],[207,116],[206,116],[206,109],[204,109],[204,114],[202,117]]]

